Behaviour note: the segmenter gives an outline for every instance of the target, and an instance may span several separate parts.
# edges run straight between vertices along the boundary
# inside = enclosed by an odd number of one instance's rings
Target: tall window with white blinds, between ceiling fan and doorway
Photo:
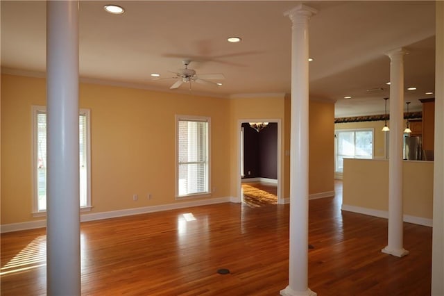
[[[210,193],[210,118],[176,116],[176,195]]]

